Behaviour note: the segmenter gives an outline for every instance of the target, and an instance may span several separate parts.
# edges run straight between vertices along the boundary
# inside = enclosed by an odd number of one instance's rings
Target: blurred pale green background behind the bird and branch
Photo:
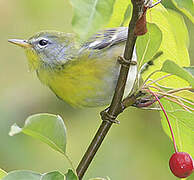
[[[45,29],[72,32],[71,18],[72,8],[66,0],[0,0],[0,167],[6,171],[65,172],[69,167],[59,153],[38,140],[25,135],[9,137],[13,123],[22,126],[29,115],[39,112],[60,114],[67,125],[67,151],[75,166],[101,123],[99,111],[104,107],[80,110],[58,100],[35,73],[28,72],[23,50],[7,43],[9,38],[28,38]],[[185,20],[194,42],[194,26]],[[121,124],[112,127],[84,179],[176,179],[168,167],[172,142],[162,130],[159,114],[131,108],[119,120]]]

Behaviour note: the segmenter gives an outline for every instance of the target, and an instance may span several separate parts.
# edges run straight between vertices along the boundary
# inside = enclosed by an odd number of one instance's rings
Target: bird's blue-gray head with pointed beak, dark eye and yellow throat
[[[41,65],[52,67],[67,62],[75,54],[72,34],[43,31],[28,40],[9,39],[8,41],[26,50],[30,69],[36,70]]]

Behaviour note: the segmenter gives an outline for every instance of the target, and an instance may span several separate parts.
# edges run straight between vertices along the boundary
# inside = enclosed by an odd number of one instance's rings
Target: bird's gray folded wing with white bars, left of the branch
[[[107,47],[114,46],[127,40],[127,27],[118,27],[112,29],[106,29],[94,34],[82,45],[82,50],[94,49],[101,50]]]

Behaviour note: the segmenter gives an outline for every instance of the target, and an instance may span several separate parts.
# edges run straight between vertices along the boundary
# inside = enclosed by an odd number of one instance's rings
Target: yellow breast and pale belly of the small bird
[[[62,100],[76,106],[100,106],[110,100],[118,74],[113,60],[73,60],[59,69],[40,69],[40,80]]]

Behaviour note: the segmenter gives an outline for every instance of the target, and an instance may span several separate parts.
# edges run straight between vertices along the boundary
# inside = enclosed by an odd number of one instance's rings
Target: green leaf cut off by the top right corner
[[[194,23],[194,1],[172,0],[173,4]]]

